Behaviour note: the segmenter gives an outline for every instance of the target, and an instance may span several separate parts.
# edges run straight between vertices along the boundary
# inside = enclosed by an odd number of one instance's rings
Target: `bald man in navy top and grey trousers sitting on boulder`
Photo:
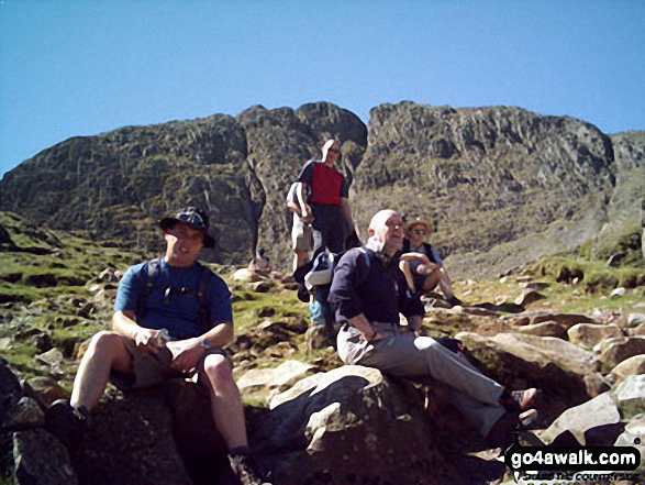
[[[397,212],[381,210],[369,223],[365,246],[347,251],[338,262],[329,298],[342,323],[338,355],[345,364],[445,384],[452,404],[491,445],[510,444],[513,429],[536,418],[537,389],[509,392],[461,354],[416,335],[424,309],[399,268],[403,227]],[[408,326],[400,324],[399,313]]]

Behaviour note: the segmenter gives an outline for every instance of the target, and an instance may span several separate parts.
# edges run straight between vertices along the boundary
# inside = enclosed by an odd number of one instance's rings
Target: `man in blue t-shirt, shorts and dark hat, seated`
[[[202,247],[214,245],[209,218],[188,207],[159,225],[165,256],[127,269],[116,293],[113,330],[92,337],[71,399],[59,399],[47,409],[45,428],[74,449],[109,381],[129,390],[197,374],[208,389],[212,419],[232,466],[245,483],[259,484],[240,390],[222,350],[233,339],[231,291],[197,261]]]

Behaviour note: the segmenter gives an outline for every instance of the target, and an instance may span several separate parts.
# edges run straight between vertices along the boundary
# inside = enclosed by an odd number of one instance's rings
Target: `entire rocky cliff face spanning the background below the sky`
[[[0,208],[157,251],[159,214],[193,203],[219,241],[209,260],[243,264],[264,246],[285,268],[286,191],[329,137],[342,143],[363,239],[379,209],[427,217],[459,274],[501,273],[603,228],[627,230],[645,192],[644,132],[608,136],[519,108],[410,101],[374,108],[366,126],[319,102],[70,139],[8,173]]]

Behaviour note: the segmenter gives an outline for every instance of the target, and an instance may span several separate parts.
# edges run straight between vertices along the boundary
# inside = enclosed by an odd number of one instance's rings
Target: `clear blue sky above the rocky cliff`
[[[0,176],[124,125],[401,100],[645,130],[645,1],[0,0]]]

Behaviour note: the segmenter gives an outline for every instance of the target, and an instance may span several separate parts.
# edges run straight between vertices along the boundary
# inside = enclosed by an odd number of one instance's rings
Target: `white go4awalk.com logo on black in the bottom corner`
[[[590,480],[608,483],[637,481],[633,472],[641,465],[641,452],[634,447],[522,447],[515,442],[504,452],[503,462],[514,472],[516,481],[521,477],[538,478],[538,482]]]

